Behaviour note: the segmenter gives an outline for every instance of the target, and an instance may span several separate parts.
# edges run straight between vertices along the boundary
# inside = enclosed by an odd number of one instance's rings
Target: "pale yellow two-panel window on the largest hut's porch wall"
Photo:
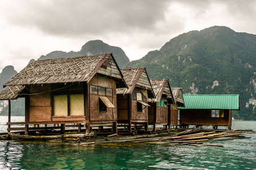
[[[84,94],[53,96],[53,116],[84,116]]]

